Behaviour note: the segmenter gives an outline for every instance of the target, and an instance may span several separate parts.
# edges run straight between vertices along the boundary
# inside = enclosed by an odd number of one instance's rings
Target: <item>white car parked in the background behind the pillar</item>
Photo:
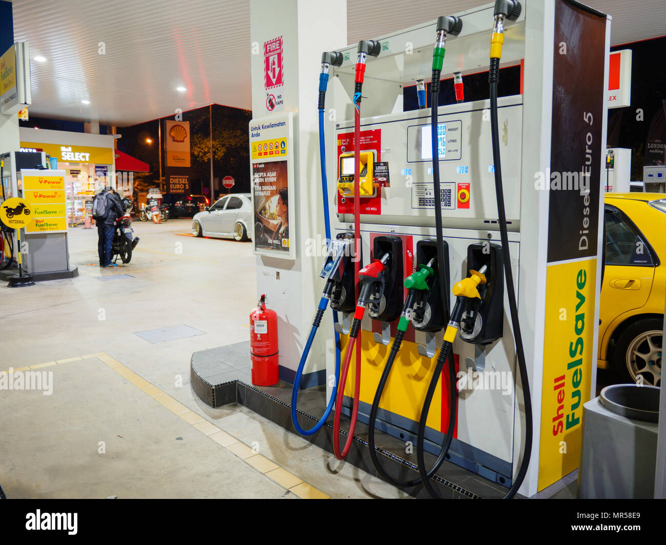
[[[252,237],[251,226],[252,200],[249,193],[225,195],[192,218],[194,236],[245,241]]]

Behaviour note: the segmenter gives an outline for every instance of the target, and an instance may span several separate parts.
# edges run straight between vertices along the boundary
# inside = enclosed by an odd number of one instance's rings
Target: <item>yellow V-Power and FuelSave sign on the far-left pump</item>
[[[31,222],[26,233],[67,232],[64,170],[21,170]]]

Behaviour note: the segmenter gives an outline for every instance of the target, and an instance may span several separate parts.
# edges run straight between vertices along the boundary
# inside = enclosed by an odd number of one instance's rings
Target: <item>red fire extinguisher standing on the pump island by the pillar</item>
[[[278,371],[278,314],[266,308],[261,294],[256,309],[250,312],[250,355],[252,384],[272,386],[280,380]]]

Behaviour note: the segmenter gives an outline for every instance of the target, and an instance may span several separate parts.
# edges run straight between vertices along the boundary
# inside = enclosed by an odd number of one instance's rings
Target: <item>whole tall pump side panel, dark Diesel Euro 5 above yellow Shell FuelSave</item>
[[[554,178],[543,188],[548,190],[549,219],[538,490],[578,467],[583,403],[590,399],[596,363],[606,24],[605,16],[555,2]],[[577,182],[559,183],[567,179]]]

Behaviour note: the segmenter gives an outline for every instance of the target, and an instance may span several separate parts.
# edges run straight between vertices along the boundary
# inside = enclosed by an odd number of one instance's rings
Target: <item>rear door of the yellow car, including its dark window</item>
[[[605,270],[599,306],[600,346],[606,346],[625,314],[645,305],[655,275],[649,241],[619,208],[605,205]],[[605,355],[599,353],[605,359]]]

